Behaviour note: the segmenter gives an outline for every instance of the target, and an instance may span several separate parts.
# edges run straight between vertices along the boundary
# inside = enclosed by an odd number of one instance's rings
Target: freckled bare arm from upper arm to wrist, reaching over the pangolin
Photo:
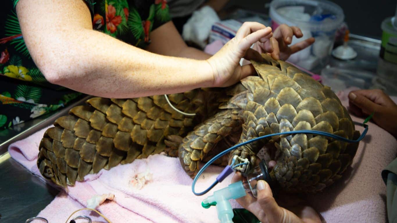
[[[83,0],[20,0],[16,10],[29,53],[51,83],[94,96],[132,98],[214,82],[204,60],[161,56],[94,31]]]

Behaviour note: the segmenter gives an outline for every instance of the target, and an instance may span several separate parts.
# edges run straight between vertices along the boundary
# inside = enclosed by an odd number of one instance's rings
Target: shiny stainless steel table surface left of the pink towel
[[[65,115],[70,108],[83,104],[91,96],[70,104],[66,108],[44,115],[37,119],[17,125],[12,129],[0,131],[0,222],[25,222],[35,217],[58,194],[58,190],[39,180],[7,152],[8,146],[26,138],[36,131],[51,125],[55,119]],[[37,148],[39,151],[39,148]],[[54,213],[55,214],[55,213]]]

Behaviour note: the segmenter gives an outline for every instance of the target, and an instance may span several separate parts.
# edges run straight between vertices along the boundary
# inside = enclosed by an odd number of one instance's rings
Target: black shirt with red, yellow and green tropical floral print
[[[48,83],[25,46],[15,12],[0,9],[0,130],[58,110],[83,94]],[[166,0],[85,0],[93,29],[133,46],[150,44],[150,31],[171,20]]]

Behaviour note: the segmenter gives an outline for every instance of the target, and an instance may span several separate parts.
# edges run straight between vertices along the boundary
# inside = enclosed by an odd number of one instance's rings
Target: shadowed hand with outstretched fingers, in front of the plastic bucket
[[[314,43],[314,38],[310,37],[306,40],[288,46],[292,42],[292,37],[297,38],[303,37],[301,29],[295,26],[288,26],[285,24],[279,25],[273,33],[273,37],[270,38],[270,42],[273,46],[273,51],[268,52],[263,43],[257,42],[254,45],[254,50],[259,53],[269,53],[275,60],[287,60],[291,54],[294,54]]]

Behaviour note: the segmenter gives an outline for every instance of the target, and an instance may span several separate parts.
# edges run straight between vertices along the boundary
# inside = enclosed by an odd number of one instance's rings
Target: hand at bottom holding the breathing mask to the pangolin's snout
[[[241,173],[237,172],[232,183],[241,181]],[[251,211],[262,223],[319,223],[321,222],[317,212],[306,206],[301,200],[291,199],[288,196],[285,200],[285,207],[280,207],[273,198],[272,190],[266,181],[258,181],[257,199],[250,194],[236,199],[236,201],[248,211]]]

